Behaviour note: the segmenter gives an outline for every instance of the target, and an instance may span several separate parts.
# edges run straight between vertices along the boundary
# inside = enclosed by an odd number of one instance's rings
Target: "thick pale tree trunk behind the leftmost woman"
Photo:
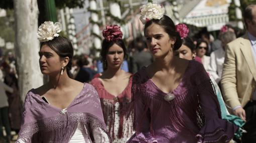
[[[39,40],[37,39],[37,0],[14,0],[16,55],[19,89],[22,100],[31,88],[43,84],[39,68]]]

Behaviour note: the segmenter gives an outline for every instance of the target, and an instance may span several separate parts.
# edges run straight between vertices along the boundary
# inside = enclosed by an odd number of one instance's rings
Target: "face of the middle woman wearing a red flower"
[[[124,60],[124,50],[118,44],[114,43],[106,55],[108,68],[120,68]]]

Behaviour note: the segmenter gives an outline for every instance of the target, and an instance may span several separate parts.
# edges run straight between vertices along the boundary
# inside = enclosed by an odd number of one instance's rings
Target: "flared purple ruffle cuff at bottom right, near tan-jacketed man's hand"
[[[196,135],[198,142],[229,142],[237,130],[237,126],[220,118],[210,119]]]

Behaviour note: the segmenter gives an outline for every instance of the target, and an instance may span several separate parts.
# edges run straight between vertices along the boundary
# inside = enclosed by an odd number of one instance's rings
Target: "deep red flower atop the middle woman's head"
[[[102,31],[104,38],[107,41],[116,41],[122,39],[123,33],[118,25],[107,25]]]

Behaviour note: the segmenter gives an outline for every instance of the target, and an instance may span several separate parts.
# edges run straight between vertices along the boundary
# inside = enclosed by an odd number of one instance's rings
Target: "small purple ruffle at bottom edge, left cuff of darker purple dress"
[[[151,135],[150,132],[134,133],[132,137],[127,141],[129,142],[140,142],[140,143],[157,143],[158,141]]]

